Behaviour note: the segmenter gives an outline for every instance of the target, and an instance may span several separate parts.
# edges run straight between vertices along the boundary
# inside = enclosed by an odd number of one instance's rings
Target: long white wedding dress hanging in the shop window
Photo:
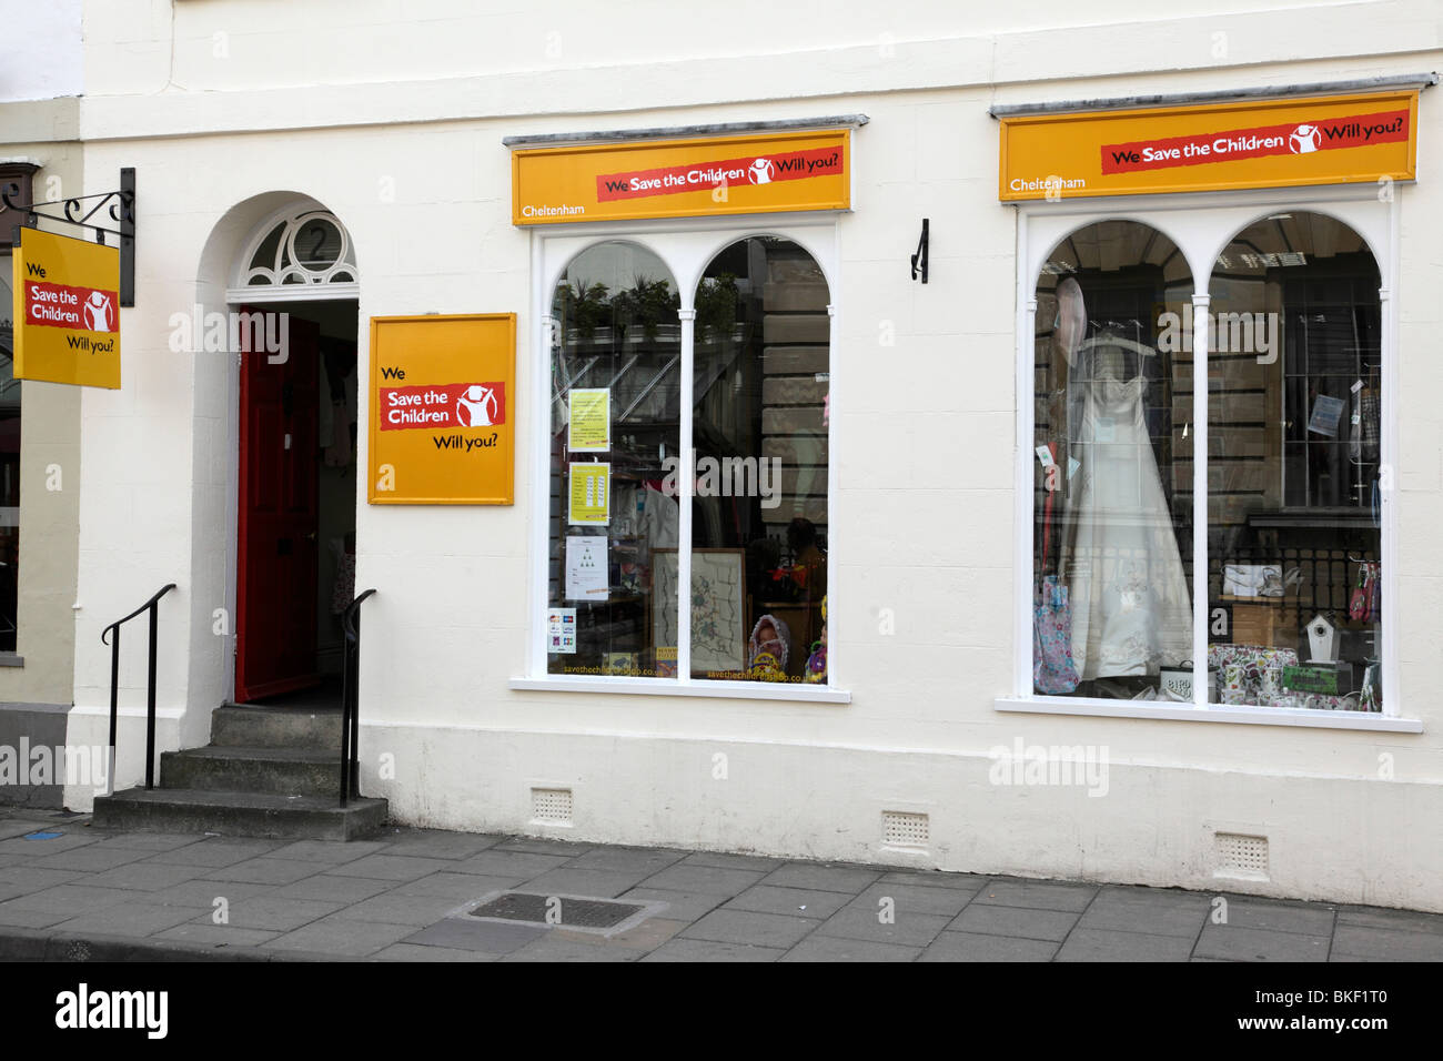
[[[1143,414],[1147,357],[1156,351],[1100,335],[1069,358],[1068,433],[1079,468],[1062,570],[1081,680],[1157,674],[1192,655],[1188,580]]]

